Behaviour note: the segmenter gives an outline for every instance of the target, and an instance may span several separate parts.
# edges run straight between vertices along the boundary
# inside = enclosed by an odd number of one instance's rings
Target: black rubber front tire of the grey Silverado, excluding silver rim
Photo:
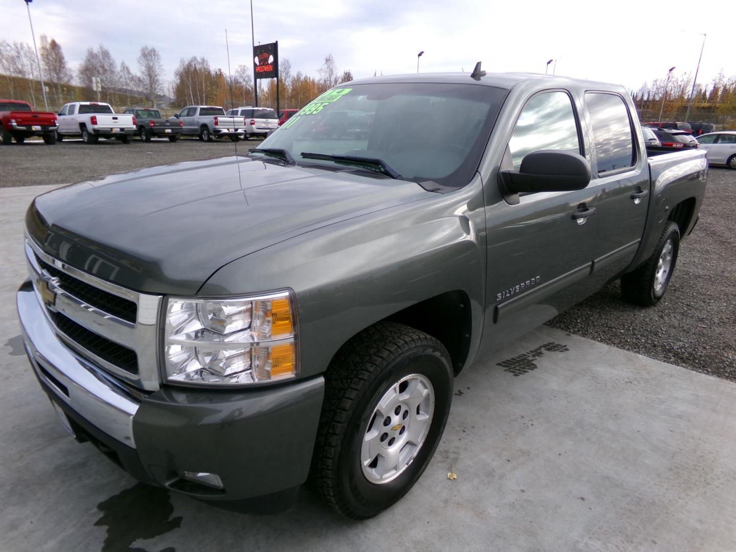
[[[386,432],[400,432],[392,435],[403,435],[402,420],[407,419],[410,411],[406,407],[407,414],[397,413],[399,417],[393,420],[396,425],[390,427],[392,422],[386,425],[376,419],[378,402],[402,378],[417,375],[429,381],[434,392],[434,410],[424,440],[413,460],[397,475],[381,483],[369,481],[364,472],[375,466],[371,463],[364,468],[361,464],[364,436],[378,428],[381,443],[390,445],[394,439],[384,441],[387,434],[383,434],[383,427]],[[339,350],[325,374],[325,402],[309,486],[344,517],[362,520],[383,512],[414,486],[427,467],[445,430],[452,396],[450,355],[434,337],[394,322],[379,322],[362,331]],[[414,417],[408,420],[406,428],[414,423]],[[411,430],[406,433],[397,446],[404,446]],[[397,436],[397,439],[401,438]]]

